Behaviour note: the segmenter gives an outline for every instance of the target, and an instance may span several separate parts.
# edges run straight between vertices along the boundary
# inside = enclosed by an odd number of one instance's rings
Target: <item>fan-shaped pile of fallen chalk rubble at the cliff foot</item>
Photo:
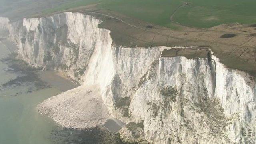
[[[85,130],[103,126],[115,133],[125,126],[123,122],[110,116],[97,85],[78,86],[44,100],[37,108],[38,112],[51,117],[65,128]]]

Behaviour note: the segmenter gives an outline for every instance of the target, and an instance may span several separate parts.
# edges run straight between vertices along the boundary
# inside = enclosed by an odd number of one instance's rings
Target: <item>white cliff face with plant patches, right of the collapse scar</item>
[[[103,95],[112,115],[142,123],[152,143],[254,143],[254,82],[215,56],[165,58],[163,49],[113,50],[116,71]]]

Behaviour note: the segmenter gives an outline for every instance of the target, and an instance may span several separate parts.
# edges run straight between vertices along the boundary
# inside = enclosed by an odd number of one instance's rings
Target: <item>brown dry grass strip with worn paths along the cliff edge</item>
[[[184,3],[182,6],[188,4]],[[181,7],[181,6],[180,6]],[[176,10],[177,11],[177,10]],[[117,45],[130,47],[154,46],[208,46],[229,68],[256,72],[256,28],[247,25],[228,24],[210,29],[197,29],[182,26],[183,30],[172,30],[158,25],[146,28],[148,22],[133,19],[111,12],[88,12],[102,17],[102,28],[112,32]],[[97,16],[96,16],[97,17]],[[242,33],[244,32],[244,33]],[[223,34],[235,34],[233,38],[221,38]],[[122,39],[122,40],[120,40]]]

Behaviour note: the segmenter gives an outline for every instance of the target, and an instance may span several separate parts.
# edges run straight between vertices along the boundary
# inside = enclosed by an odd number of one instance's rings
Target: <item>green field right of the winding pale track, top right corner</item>
[[[187,0],[174,20],[185,26],[210,28],[219,24],[256,23],[255,0]]]

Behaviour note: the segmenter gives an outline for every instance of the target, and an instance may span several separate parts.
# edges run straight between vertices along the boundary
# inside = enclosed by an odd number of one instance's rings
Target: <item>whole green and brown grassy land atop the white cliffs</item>
[[[16,19],[60,12],[93,15],[103,21],[100,28],[111,31],[116,45],[208,46],[226,66],[256,74],[256,1],[253,0],[51,0],[49,4],[46,0],[1,2],[4,4],[0,5],[0,16],[13,16]],[[36,14],[28,13],[30,10]],[[185,54],[189,52],[192,55],[188,57],[195,57],[191,50]]]

